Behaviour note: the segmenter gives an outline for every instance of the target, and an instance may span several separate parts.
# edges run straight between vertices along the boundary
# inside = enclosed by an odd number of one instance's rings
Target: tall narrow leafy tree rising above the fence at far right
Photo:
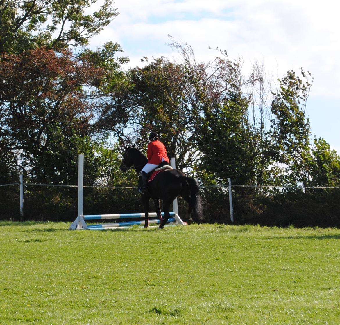
[[[274,159],[282,169],[280,182],[309,185],[311,161],[310,124],[305,116],[311,82],[310,73],[301,69],[301,77],[294,71],[279,80],[279,90],[273,93],[271,105],[271,139]]]

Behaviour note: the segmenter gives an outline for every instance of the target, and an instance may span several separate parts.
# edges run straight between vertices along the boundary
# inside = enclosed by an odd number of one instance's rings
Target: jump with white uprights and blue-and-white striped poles
[[[104,229],[121,229],[131,227],[132,225],[145,224],[144,220],[134,220],[125,222],[114,222],[104,224],[87,225],[85,220],[101,220],[101,219],[129,219],[129,218],[145,218],[144,213],[122,213],[122,214],[96,214],[96,215],[83,215],[83,189],[84,189],[84,155],[79,155],[78,158],[78,216],[70,225],[69,230],[89,229],[89,230],[104,230]],[[177,202],[176,202],[177,203]],[[176,207],[175,207],[176,208]],[[176,209],[177,210],[177,209]],[[164,213],[162,213],[162,216]],[[177,213],[170,212],[171,218],[168,224],[186,225]],[[157,217],[155,212],[149,213],[149,217]],[[149,223],[159,224],[159,219],[150,219]]]

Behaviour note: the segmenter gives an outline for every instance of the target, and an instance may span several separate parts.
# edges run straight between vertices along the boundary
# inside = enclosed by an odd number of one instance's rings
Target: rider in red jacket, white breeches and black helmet
[[[148,163],[143,167],[140,172],[142,178],[142,186],[139,189],[140,193],[148,192],[148,173],[156,169],[162,161],[169,163],[167,150],[165,145],[158,140],[156,132],[151,132],[148,144]]]

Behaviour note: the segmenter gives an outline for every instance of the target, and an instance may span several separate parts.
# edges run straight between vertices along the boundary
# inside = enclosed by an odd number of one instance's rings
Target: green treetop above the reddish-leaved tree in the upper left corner
[[[0,3],[0,53],[36,47],[84,46],[118,13],[111,0],[87,14],[96,0],[5,0]]]

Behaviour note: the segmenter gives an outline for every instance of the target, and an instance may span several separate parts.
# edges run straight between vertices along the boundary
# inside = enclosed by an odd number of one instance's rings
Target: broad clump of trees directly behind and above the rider
[[[177,43],[172,46],[179,50],[182,61],[172,63],[158,58],[147,61],[143,68],[131,69],[126,92],[113,97],[111,107],[102,116],[104,127],[117,133],[133,130],[132,139],[146,139],[150,130],[157,130],[169,155],[176,156],[178,168],[193,168],[195,162],[201,161],[200,168],[217,173],[219,179],[223,174],[226,179],[231,175],[230,168],[223,167],[233,163],[232,174],[240,175],[240,171],[236,172],[237,161],[250,166],[254,153],[241,149],[240,139],[249,139],[250,128],[249,99],[241,94],[244,80],[239,62],[217,57],[208,64],[198,64],[190,47]],[[116,123],[117,116],[122,117],[121,124]],[[212,132],[218,136],[214,138]],[[252,143],[249,146],[251,149]]]

